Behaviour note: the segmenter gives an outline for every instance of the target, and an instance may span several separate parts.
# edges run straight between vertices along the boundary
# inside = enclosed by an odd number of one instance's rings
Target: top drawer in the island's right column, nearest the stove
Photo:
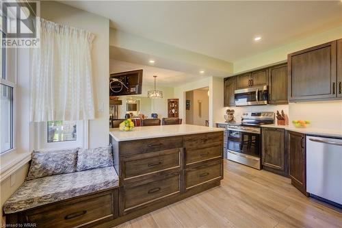
[[[223,131],[205,133],[205,134],[195,134],[184,136],[184,147],[186,149],[196,149],[205,147],[205,144],[212,144],[214,142],[222,142]]]

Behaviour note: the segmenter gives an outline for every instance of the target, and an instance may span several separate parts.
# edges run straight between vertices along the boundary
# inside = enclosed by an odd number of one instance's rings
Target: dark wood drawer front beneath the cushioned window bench
[[[58,203],[56,205],[31,210],[23,216],[27,223],[36,223],[38,227],[79,227],[92,222],[114,219],[114,198],[116,194],[104,194],[98,197],[84,197],[80,201]],[[45,210],[46,209],[46,210]]]

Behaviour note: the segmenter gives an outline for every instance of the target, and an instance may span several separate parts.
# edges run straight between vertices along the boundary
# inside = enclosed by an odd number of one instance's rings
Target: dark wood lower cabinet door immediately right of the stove
[[[263,166],[285,171],[284,129],[263,127]]]

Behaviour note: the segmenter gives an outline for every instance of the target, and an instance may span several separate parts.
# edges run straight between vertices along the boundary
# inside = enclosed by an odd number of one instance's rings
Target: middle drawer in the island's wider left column
[[[171,168],[181,168],[181,149],[134,155],[124,161],[124,179],[140,177]]]

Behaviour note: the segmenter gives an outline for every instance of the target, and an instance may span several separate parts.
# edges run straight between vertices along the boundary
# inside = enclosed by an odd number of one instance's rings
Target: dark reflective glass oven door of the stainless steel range
[[[261,157],[261,135],[255,132],[228,130],[228,151]]]

